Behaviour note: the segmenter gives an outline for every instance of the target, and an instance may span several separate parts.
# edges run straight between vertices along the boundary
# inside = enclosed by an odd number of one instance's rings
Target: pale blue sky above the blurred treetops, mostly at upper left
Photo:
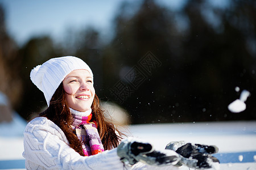
[[[58,39],[67,29],[76,30],[88,25],[108,35],[123,1],[126,0],[0,0],[0,3],[5,9],[7,31],[22,45],[32,36],[43,34]],[[177,9],[187,0],[156,1],[160,5]],[[208,1],[216,3],[221,0]]]

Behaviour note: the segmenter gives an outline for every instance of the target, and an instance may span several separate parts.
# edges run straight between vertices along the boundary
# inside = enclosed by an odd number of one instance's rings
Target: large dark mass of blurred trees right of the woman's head
[[[243,114],[227,109],[239,97],[236,86],[254,93],[255,50],[247,47],[255,46],[254,1],[232,1],[225,9],[188,1],[178,12],[152,0],[144,0],[135,14],[132,7],[124,3],[117,14],[115,36],[104,54],[105,87],[115,86],[148,51],[162,62],[123,102],[133,123],[256,118],[249,105],[253,95]],[[210,12],[215,18],[209,21]],[[184,31],[181,22],[187,22]]]

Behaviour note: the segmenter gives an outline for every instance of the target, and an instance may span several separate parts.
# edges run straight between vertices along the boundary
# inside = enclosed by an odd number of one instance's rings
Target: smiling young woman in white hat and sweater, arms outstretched
[[[207,158],[214,162],[209,151],[204,151],[205,157],[199,155],[203,161],[184,161],[199,153],[195,145],[188,150],[187,143],[170,143],[167,150],[156,151],[150,143],[122,140],[122,133],[106,121],[92,70],[80,58],[49,59],[36,66],[30,78],[43,92],[48,108],[24,130],[27,169],[176,169],[176,164],[210,168]],[[213,150],[210,154],[217,151]],[[183,151],[195,153],[186,158]]]

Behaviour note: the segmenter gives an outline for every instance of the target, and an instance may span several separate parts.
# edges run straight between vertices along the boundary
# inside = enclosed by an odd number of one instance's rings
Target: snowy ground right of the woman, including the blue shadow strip
[[[219,152],[214,156],[220,160],[220,169],[256,169],[256,121],[133,125],[129,129],[134,137],[159,149],[171,141],[216,145]]]

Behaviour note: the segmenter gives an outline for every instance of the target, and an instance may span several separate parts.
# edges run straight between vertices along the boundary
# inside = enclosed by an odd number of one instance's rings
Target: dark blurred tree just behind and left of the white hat
[[[43,92],[41,92],[30,80],[30,71],[37,65],[41,65],[49,58],[60,57],[62,50],[55,47],[48,36],[34,37],[27,42],[20,50],[19,75],[23,80],[23,100],[19,102],[17,111],[24,118],[29,120],[31,113],[38,113],[46,107]]]

